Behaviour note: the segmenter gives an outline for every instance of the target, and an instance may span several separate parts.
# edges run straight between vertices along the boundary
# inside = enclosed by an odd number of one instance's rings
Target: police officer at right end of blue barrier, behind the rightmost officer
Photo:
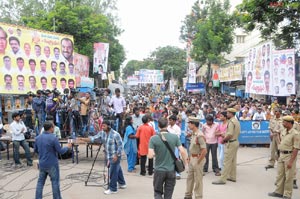
[[[275,117],[270,121],[270,138],[271,138],[271,157],[266,169],[274,168],[275,161],[278,159],[278,145],[280,143],[280,131],[283,129],[281,110],[274,109]]]

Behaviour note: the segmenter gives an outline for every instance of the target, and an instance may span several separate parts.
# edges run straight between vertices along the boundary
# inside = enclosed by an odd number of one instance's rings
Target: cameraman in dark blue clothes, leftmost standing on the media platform
[[[38,135],[43,127],[45,118],[45,98],[42,96],[42,91],[36,92],[36,97],[32,99],[32,108],[35,112],[34,121],[38,121],[36,135]]]

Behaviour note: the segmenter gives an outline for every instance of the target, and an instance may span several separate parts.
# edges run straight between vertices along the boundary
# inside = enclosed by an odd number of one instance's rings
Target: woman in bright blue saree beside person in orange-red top
[[[137,144],[135,138],[135,130],[132,126],[132,117],[128,116],[125,119],[125,133],[123,147],[127,155],[128,172],[134,172],[137,157]]]

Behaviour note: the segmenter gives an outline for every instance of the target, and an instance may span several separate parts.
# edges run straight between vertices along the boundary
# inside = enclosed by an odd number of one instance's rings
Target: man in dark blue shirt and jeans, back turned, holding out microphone
[[[53,122],[46,121],[44,130],[44,133],[36,137],[34,145],[34,151],[39,155],[40,170],[35,199],[43,198],[43,188],[48,175],[51,179],[53,199],[61,199],[57,154],[67,152],[72,148],[72,144],[68,143],[67,147],[61,148],[58,139],[53,135]]]

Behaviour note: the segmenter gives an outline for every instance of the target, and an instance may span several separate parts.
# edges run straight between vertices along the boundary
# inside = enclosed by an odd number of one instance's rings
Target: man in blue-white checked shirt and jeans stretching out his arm
[[[103,121],[102,128],[103,131],[98,132],[97,135],[88,138],[78,138],[78,140],[93,143],[97,139],[104,145],[110,177],[109,188],[104,191],[104,194],[109,195],[117,193],[117,183],[119,183],[120,189],[126,188],[126,182],[120,165],[123,145],[120,134],[111,128],[108,120]]]

